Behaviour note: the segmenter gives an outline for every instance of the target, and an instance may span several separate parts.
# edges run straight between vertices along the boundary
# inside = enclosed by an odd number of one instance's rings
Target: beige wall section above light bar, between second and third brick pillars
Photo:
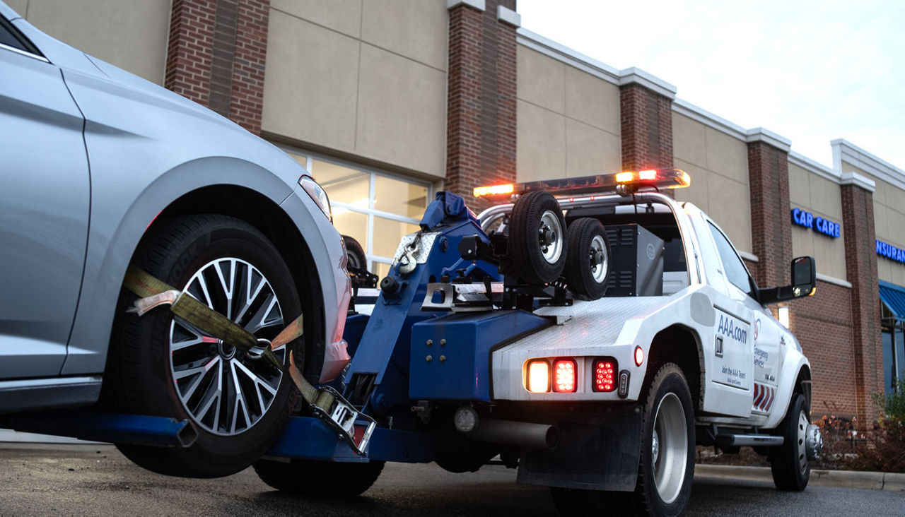
[[[619,88],[521,45],[517,52],[518,181],[619,171]]]

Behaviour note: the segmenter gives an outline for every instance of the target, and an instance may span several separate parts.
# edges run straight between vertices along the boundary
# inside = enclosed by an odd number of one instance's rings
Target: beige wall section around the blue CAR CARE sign
[[[843,223],[843,205],[839,184],[789,164],[789,204],[835,223]],[[789,216],[791,217],[791,215]],[[810,255],[817,262],[817,272],[828,277],[845,277],[845,232],[834,239],[820,232],[792,224],[792,255]]]

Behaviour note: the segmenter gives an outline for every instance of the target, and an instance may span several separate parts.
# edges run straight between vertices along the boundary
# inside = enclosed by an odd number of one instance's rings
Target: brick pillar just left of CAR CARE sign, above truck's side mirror
[[[759,261],[752,271],[759,287],[788,285],[792,261],[789,218],[788,150],[785,142],[748,141],[748,188],[751,196],[751,247]]]

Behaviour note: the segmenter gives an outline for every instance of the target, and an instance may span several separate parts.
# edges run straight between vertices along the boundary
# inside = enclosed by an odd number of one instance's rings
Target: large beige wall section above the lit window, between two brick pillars
[[[443,2],[272,0],[262,129],[445,175]]]

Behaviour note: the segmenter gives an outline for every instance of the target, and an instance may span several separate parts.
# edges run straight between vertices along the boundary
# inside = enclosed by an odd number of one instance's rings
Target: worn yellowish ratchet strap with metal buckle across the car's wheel
[[[191,295],[152,277],[141,268],[129,266],[123,287],[138,296],[138,300],[135,301],[129,312],[141,316],[159,305],[169,305],[170,312],[194,325],[198,330],[210,334],[244,353],[252,356],[259,355],[271,362],[274,368],[290,376],[296,388],[299,389],[301,398],[308,403],[309,409],[315,417],[320,418],[329,428],[336,431],[338,436],[348,443],[356,454],[365,455],[367,443],[376,428],[374,418],[358,412],[337,390],[329,386],[320,389],[312,386],[302,376],[292,353],[290,353],[288,366],[273,353],[273,350],[301,336],[301,315],[268,344],[267,340],[259,340],[254,337],[254,334],[233,323],[226,316],[214,311]],[[357,427],[357,420],[362,420],[364,423]]]

